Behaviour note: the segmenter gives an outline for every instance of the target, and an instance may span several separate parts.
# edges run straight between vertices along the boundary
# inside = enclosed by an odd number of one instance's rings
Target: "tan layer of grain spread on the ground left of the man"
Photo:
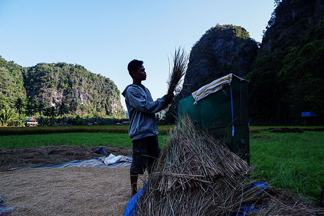
[[[123,215],[129,167],[28,168],[0,172],[12,215]],[[139,184],[140,185],[140,184]]]

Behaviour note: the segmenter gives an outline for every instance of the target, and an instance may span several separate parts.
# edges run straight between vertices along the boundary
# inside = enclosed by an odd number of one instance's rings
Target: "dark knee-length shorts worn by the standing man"
[[[155,161],[160,155],[157,135],[136,139],[132,143],[133,162],[130,171],[140,175],[144,174],[145,169],[151,172]]]

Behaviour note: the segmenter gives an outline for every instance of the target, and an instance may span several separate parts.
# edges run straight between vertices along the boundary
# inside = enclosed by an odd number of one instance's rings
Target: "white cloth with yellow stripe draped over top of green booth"
[[[193,99],[195,100],[195,102],[193,104],[197,104],[197,101],[205,98],[206,96],[208,96],[214,92],[217,92],[217,91],[223,89],[227,84],[230,85],[233,76],[237,77],[240,80],[245,80],[245,79],[242,79],[232,73],[230,73],[226,76],[223,76],[219,79],[216,79],[216,80],[212,81],[211,83],[204,85],[203,87],[201,87],[200,89],[198,89],[197,91],[195,91],[191,94]]]

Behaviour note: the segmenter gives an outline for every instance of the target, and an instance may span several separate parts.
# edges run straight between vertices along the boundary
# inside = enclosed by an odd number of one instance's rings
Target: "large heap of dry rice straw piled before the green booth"
[[[178,119],[153,178],[138,203],[138,215],[324,215],[322,208],[272,188],[248,187],[251,168],[226,145]],[[151,177],[151,176],[150,176]]]

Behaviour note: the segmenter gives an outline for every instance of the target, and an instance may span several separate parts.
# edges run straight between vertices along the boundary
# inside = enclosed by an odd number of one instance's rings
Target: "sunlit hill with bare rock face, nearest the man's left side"
[[[64,103],[73,114],[124,116],[119,90],[112,80],[81,65],[37,64],[24,73],[27,96],[58,106]]]

